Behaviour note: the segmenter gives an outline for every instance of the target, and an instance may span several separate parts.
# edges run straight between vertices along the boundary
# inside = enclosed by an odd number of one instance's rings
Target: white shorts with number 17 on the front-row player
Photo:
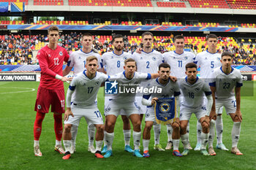
[[[103,124],[102,115],[100,114],[97,105],[92,105],[90,107],[78,107],[72,104],[71,111],[73,112],[74,117],[69,116],[69,119],[65,120],[64,124],[72,124],[78,126],[82,117],[85,117],[88,125]]]

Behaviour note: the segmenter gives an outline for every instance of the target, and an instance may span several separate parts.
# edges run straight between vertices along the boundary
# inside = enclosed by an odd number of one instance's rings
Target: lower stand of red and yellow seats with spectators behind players
[[[71,33],[62,34],[59,39],[59,45],[65,47],[69,53],[80,49],[82,46],[79,42],[81,34]],[[125,51],[133,53],[141,43],[141,36],[125,36]],[[200,53],[207,50],[206,37],[204,36],[185,36],[185,50],[192,50]],[[219,51],[230,50],[234,53],[234,64],[252,65],[256,64],[256,48],[249,39],[244,44],[244,39],[237,42],[233,37],[219,37]],[[44,35],[0,35],[0,64],[17,65],[17,64],[35,64],[37,61],[33,58],[32,51],[37,51],[44,47],[48,39]],[[94,36],[94,48],[103,54],[112,49],[112,36],[97,35]],[[154,36],[154,49],[161,53],[175,50],[173,39],[170,36]]]

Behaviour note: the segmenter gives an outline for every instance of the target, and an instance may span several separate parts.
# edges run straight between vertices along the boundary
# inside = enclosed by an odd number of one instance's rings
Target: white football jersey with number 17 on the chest
[[[86,71],[79,73],[69,85],[69,89],[75,90],[76,93],[75,98],[72,100],[73,103],[83,107],[95,104],[98,90],[102,82],[106,80],[108,80],[108,75],[102,72],[97,72],[92,79],[86,76]]]

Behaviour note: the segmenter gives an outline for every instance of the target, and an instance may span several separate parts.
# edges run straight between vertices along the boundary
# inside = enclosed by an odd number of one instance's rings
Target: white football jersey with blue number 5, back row
[[[222,66],[220,62],[221,55],[219,53],[209,53],[208,50],[198,53],[195,56],[195,63],[200,66],[200,77],[209,82],[211,77],[211,71],[219,66]]]

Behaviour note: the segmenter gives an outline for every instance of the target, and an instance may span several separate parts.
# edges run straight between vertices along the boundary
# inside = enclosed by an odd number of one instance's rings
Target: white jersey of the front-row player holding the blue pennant
[[[172,96],[178,96],[181,94],[179,88],[178,88],[178,82],[173,82],[169,79],[166,85],[162,85],[159,82],[159,78],[156,80],[153,80],[150,84],[147,85],[147,88],[160,88],[162,89],[162,93],[144,93],[143,98],[148,99],[149,101],[152,100],[152,98],[170,98]],[[141,102],[141,101],[139,101]],[[151,107],[152,109],[154,107]]]

